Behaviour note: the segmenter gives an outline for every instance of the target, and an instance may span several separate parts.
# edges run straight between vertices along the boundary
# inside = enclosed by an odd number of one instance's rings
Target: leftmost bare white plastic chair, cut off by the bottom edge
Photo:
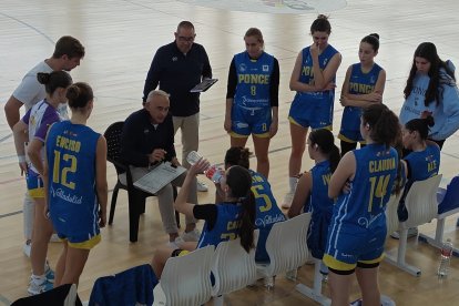
[[[197,248],[167,259],[153,289],[153,305],[202,305],[211,299],[211,263],[214,246]]]

